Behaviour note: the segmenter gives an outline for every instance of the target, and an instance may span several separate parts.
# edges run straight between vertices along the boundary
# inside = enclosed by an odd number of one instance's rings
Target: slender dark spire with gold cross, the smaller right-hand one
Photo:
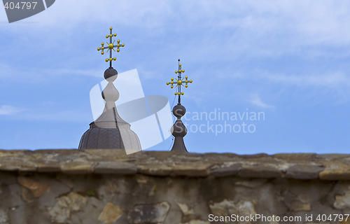
[[[186,113],[185,106],[181,105],[181,95],[184,94],[184,92],[181,92],[181,86],[184,86],[187,88],[188,83],[192,83],[192,80],[188,80],[188,76],[186,76],[185,78],[181,77],[181,73],[184,73],[185,70],[182,69],[182,65],[180,64],[180,59],[178,59],[178,62],[179,62],[179,70],[175,71],[175,73],[178,75],[177,78],[175,78],[175,81],[174,81],[174,78],[172,78],[172,81],[167,83],[167,85],[170,84],[171,88],[173,88],[175,85],[175,88],[177,91],[175,92],[175,96],[179,95],[178,104],[173,108],[173,114],[174,116],[176,116],[177,119],[174,125],[172,126],[172,129],[170,130],[170,132],[172,132],[172,135],[175,137],[172,151],[188,152],[186,149],[185,143],[183,142],[183,137],[186,136],[187,129],[181,121],[181,117],[184,116]]]

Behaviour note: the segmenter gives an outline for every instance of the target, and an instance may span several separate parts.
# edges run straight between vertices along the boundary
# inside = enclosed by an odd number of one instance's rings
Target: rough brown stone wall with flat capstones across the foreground
[[[350,223],[349,164],[335,154],[0,151],[0,224]]]

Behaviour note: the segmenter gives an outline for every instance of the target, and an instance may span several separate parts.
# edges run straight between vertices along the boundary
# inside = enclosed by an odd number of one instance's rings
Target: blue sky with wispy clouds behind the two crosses
[[[193,79],[182,99],[189,114],[265,114],[245,120],[252,133],[210,129],[244,120],[192,117],[188,151],[348,153],[349,8],[349,1],[57,0],[11,24],[0,8],[0,148],[78,147],[92,121],[90,89],[107,68],[96,48],[113,27],[125,43],[114,67],[137,69],[146,95],[172,104],[165,83],[181,58]],[[195,132],[200,125],[205,132]]]

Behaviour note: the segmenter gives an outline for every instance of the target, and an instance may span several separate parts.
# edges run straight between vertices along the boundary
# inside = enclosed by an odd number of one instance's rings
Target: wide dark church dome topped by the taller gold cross
[[[102,91],[102,98],[106,104],[101,116],[90,123],[90,129],[81,137],[79,150],[124,148],[127,154],[141,151],[139,137],[130,129],[130,124],[120,118],[116,109],[119,92],[113,85],[113,81],[118,77],[118,72],[112,66],[112,62],[116,61],[116,57],[112,55],[112,50],[119,52],[120,48],[125,46],[124,43],[120,43],[120,40],[117,41],[117,45],[114,45],[116,41],[113,41],[112,38],[116,36],[117,34],[112,34],[112,27],[109,28],[109,35],[106,35],[109,43],[102,43],[102,46],[97,48],[98,51],[101,50],[102,55],[104,55],[106,49],[108,49],[106,52],[109,52],[109,58],[105,59],[106,62],[109,62],[109,68],[104,71],[104,78],[108,81],[108,84]]]

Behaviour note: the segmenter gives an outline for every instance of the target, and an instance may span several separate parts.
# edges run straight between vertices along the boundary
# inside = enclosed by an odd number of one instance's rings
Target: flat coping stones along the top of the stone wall
[[[0,150],[1,172],[62,172],[64,174],[145,174],[244,178],[350,180],[350,155],[281,153],[181,153],[100,149]]]

